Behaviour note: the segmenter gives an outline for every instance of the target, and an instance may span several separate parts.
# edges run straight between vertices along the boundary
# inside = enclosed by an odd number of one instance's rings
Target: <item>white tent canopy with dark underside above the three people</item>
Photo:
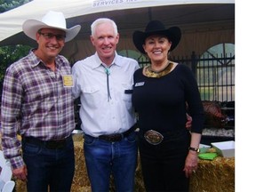
[[[144,30],[148,20],[161,20],[166,26],[179,26],[182,38],[176,54],[202,53],[218,43],[235,44],[235,0],[34,0],[0,14],[0,45],[33,44],[22,32],[25,20],[40,20],[45,12],[60,11],[68,28],[82,29],[75,40],[66,44],[63,54],[80,60],[94,52],[90,43],[93,20],[108,17],[116,21],[121,50],[136,50],[132,32]]]

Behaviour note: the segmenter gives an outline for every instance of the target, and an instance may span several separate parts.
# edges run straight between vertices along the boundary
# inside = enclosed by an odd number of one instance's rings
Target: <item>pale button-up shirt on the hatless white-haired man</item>
[[[96,52],[72,68],[72,93],[81,100],[81,128],[92,137],[125,132],[136,122],[132,84],[138,62],[116,53],[110,67],[104,66]]]

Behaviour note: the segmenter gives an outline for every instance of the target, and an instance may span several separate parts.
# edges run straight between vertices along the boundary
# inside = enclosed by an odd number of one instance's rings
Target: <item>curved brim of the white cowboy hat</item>
[[[56,28],[49,25],[46,25],[44,22],[39,20],[26,20],[23,25],[22,29],[23,32],[30,38],[36,40],[36,33],[40,28]],[[66,32],[65,42],[68,42],[75,38],[75,36],[79,33],[81,26],[76,25],[72,28],[56,28]]]

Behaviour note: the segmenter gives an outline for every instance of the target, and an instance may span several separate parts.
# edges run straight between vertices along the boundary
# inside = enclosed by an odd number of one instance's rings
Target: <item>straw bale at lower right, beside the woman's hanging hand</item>
[[[190,178],[190,192],[235,191],[235,157],[200,160]]]

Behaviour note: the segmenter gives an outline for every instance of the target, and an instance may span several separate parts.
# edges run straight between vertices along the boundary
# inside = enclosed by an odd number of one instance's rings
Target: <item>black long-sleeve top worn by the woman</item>
[[[140,68],[134,73],[132,93],[132,104],[139,114],[140,130],[185,130],[188,111],[193,118],[191,132],[202,133],[204,108],[196,78],[190,68],[178,64],[172,72],[160,78],[144,76],[142,70]]]

